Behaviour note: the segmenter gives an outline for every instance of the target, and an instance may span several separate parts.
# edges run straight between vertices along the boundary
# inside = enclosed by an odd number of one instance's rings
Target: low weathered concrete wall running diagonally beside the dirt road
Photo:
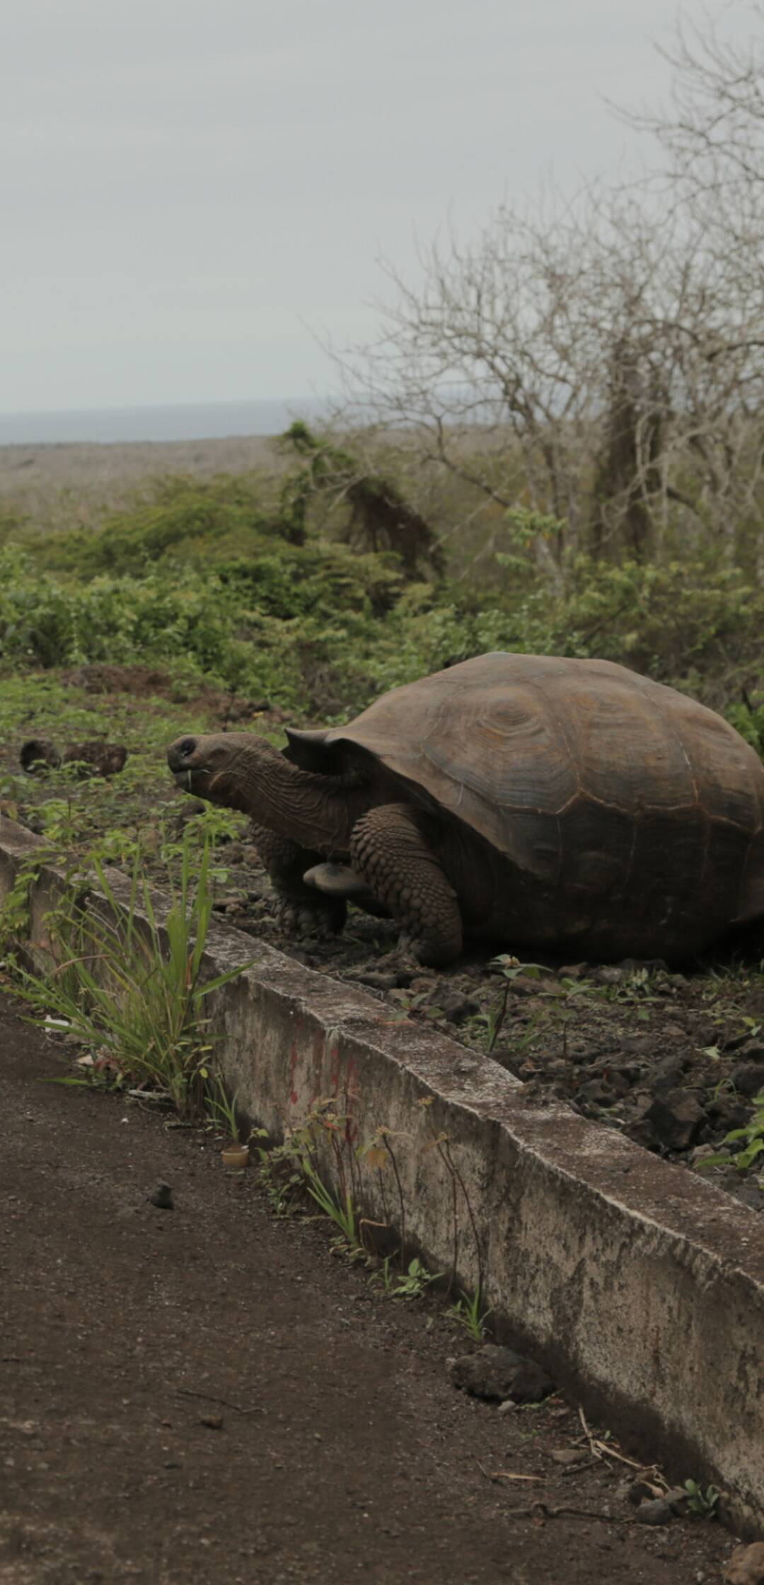
[[[40,838],[0,816],[0,900],[24,861],[40,862],[32,940],[60,888],[43,854]],[[108,875],[127,899],[125,878]],[[92,905],[106,907],[97,891]],[[342,1122],[317,1136],[334,1187],[352,1181],[366,1217],[403,1233],[431,1270],[455,1273],[455,1289],[480,1287],[499,1328],[591,1414],[672,1476],[715,1482],[731,1518],[761,1533],[761,1217],[615,1130],[526,1095],[491,1059],[214,922],[209,975],[243,964],[208,1003],[243,1110],[282,1136],[331,1098]],[[366,1160],[374,1140],[384,1155]]]

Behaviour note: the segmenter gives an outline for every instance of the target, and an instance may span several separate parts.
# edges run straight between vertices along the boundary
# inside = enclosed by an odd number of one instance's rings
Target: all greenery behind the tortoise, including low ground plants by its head
[[[456,575],[399,488],[366,480],[358,495],[349,452],[298,441],[298,466],[277,487],[258,476],[154,480],[130,510],[70,533],[6,515],[0,799],[73,862],[132,864],[138,848],[149,867],[173,862],[181,815],[165,750],[225,724],[223,699],[236,701],[238,728],[282,742],[285,718],[347,720],[487,650],[634,666],[721,710],[762,751],[764,591],[729,561],[571,553],[550,571],[560,525],[514,509],[479,580],[463,563]],[[353,491],[342,520],[338,499]],[[380,493],[382,515],[369,507]],[[398,536],[418,536],[415,556],[395,540],[393,517]],[[157,667],[163,683],[154,696],[119,682],[94,694],[79,683],[87,666]],[[89,781],[71,766],[22,775],[21,742],[41,735],[60,748],[124,743],[125,769]],[[208,810],[195,827],[216,843],[243,821]]]

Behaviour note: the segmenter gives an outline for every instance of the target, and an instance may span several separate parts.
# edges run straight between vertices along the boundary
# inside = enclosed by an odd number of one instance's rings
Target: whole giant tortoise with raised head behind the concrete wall
[[[181,737],[181,788],[244,810],[282,921],[392,915],[425,964],[686,957],[764,919],[764,766],[716,715],[610,661],[480,655],[273,748]]]

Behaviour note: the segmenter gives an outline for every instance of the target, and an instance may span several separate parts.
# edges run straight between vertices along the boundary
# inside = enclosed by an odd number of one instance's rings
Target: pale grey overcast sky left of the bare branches
[[[685,14],[701,19],[701,0]],[[750,14],[750,13],[748,13]],[[379,254],[615,174],[666,0],[5,0],[0,411],[306,396]]]

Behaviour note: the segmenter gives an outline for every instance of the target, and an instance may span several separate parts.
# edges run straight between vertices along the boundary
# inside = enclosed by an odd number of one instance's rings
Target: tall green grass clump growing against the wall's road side
[[[92,1059],[92,1076],[155,1090],[182,1114],[198,1114],[212,1049],[204,1002],[247,967],[201,978],[212,913],[209,848],[192,881],[184,846],[163,930],[138,864],[127,903],[117,900],[98,861],[95,875],[108,913],[98,913],[97,903],[86,910],[68,889],[46,921],[55,968],[46,976],[19,968],[16,991],[33,1022],[44,1025],[55,1016],[67,1024]]]

